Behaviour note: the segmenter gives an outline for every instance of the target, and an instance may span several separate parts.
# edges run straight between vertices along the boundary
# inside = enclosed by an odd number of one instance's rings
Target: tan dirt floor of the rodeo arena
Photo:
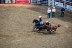
[[[47,18],[48,6],[0,4],[0,48],[72,48],[72,12],[61,18]],[[32,32],[33,19],[42,16],[43,22],[61,24],[55,33],[46,30]]]

